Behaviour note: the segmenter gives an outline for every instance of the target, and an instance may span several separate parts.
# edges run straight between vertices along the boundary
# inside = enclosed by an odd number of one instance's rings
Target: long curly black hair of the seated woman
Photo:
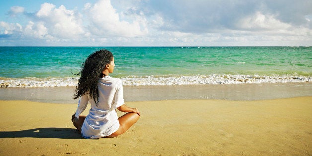
[[[98,87],[99,78],[103,77],[103,70],[107,64],[113,60],[113,54],[108,50],[99,50],[89,55],[85,62],[81,65],[81,71],[78,74],[80,78],[76,85],[74,99],[84,94],[89,94],[93,98],[96,105],[98,103]]]

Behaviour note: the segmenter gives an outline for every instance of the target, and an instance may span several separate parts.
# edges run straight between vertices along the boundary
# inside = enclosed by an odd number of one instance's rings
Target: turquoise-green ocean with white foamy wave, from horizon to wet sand
[[[0,87],[76,86],[100,49],[129,86],[312,81],[312,47],[0,47]]]

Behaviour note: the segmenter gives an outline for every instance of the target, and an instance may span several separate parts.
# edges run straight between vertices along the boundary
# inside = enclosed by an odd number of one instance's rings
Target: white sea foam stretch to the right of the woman
[[[311,82],[311,77],[258,76],[258,75],[195,75],[195,76],[144,76],[122,78],[124,85],[189,85],[189,84],[243,84]]]

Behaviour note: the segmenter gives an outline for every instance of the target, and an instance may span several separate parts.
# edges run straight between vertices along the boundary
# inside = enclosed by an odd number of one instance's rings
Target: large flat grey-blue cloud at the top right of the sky
[[[151,12],[163,17],[166,24],[162,30],[192,33],[241,29],[240,22],[254,15],[258,18],[252,19],[254,27],[258,28],[265,26],[257,26],[259,20],[301,26],[310,22],[305,17],[312,14],[311,0],[157,0],[151,1],[149,7]]]

